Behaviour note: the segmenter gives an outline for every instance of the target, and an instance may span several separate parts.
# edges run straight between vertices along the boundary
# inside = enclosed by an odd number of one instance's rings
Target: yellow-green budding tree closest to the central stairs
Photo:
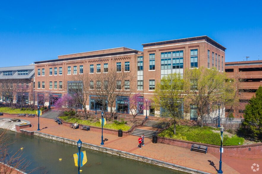
[[[180,74],[165,75],[161,83],[156,83],[153,97],[154,107],[161,111],[161,116],[174,118],[174,134],[177,120],[182,117],[183,83]]]

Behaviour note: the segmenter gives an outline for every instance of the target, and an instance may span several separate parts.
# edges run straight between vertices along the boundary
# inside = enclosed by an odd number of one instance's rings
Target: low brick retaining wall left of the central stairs
[[[58,117],[57,117],[58,118]],[[70,122],[66,122],[65,120],[59,118],[60,120],[62,120],[63,125],[65,126],[70,126]],[[79,128],[82,124],[79,124]],[[89,126],[89,125],[88,125]],[[137,125],[136,128],[141,127],[142,125]],[[91,131],[95,131],[95,132],[102,132],[102,127],[96,127],[96,126],[90,126],[90,130]],[[109,134],[113,134],[113,135],[118,135],[118,130],[115,129],[108,129],[108,128],[103,128],[103,133],[109,133]],[[123,136],[129,136],[129,132],[128,131],[123,131]]]

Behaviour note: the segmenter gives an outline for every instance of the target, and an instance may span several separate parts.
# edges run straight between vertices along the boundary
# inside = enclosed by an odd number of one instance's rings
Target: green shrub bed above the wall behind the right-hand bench
[[[219,131],[218,128],[212,128],[208,126],[204,126],[203,128],[201,128],[200,126],[190,127],[185,125],[177,125],[176,135],[174,135],[174,125],[172,125],[170,128],[167,128],[166,130],[158,134],[158,136],[205,143],[205,144],[214,144],[220,146],[221,133],[220,131],[219,133],[217,133],[217,131]],[[238,137],[236,135],[229,137],[224,133],[223,133],[224,146],[236,146],[239,145],[239,143],[241,145],[243,144],[244,138]]]

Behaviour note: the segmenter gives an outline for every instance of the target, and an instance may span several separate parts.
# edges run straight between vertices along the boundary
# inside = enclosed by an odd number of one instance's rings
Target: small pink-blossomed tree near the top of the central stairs
[[[129,97],[129,108],[131,110],[131,114],[133,115],[134,123],[136,115],[138,115],[140,112],[143,112],[144,110],[143,102],[144,99],[139,93],[136,93]]]

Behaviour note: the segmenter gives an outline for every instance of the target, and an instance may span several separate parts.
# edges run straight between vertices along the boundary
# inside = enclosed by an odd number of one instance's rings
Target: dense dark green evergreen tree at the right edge
[[[247,128],[253,137],[262,138],[262,86],[246,105],[242,129]]]

